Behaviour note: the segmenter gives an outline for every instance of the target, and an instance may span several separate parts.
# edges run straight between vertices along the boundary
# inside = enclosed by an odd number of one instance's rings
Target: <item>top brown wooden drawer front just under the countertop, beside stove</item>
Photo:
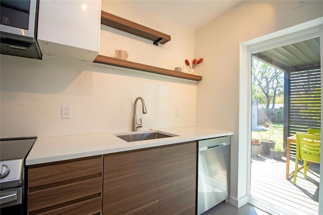
[[[28,170],[28,187],[57,183],[102,173],[102,157],[53,164]]]

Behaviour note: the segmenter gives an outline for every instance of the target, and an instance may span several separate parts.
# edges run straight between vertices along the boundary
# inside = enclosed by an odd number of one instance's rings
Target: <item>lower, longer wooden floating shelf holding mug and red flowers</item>
[[[177,77],[177,78],[184,78],[184,79],[189,79],[189,80],[194,80],[194,81],[202,80],[202,76],[198,76],[198,75],[177,72],[174,70],[167,70],[167,69],[163,69],[163,68],[148,66],[148,65],[144,65],[144,64],[138,64],[138,63],[131,62],[131,61],[124,61],[124,60],[101,56],[101,55],[98,55],[94,59],[93,62],[117,66],[117,67],[123,67],[123,68],[128,68],[128,69],[140,70],[140,71],[150,72],[150,73],[155,73],[155,74],[160,74],[160,75],[167,75],[167,76],[172,76],[172,77]]]

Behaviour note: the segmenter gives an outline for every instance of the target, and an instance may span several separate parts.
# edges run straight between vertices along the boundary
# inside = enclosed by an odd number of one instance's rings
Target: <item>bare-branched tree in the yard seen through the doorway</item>
[[[252,95],[259,103],[275,108],[276,96],[284,90],[283,71],[252,58]]]

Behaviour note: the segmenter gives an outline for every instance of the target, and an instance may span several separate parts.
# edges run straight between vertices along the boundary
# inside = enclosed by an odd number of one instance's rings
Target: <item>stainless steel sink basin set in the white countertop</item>
[[[127,142],[178,136],[176,134],[170,134],[166,132],[161,133],[159,131],[146,132],[146,133],[134,133],[134,134],[115,134],[115,135]]]

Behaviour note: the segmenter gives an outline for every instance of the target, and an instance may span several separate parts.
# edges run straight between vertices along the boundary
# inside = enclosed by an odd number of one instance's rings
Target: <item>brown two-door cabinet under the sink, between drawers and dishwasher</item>
[[[197,143],[104,156],[103,214],[195,214]]]

